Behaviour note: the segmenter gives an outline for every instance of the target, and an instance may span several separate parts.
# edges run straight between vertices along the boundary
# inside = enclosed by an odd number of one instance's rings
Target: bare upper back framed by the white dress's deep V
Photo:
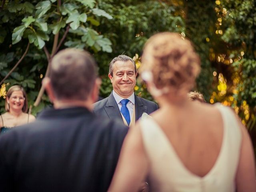
[[[182,164],[190,172],[205,176],[214,166],[223,140],[218,108],[191,102],[184,109],[160,109],[154,117]]]

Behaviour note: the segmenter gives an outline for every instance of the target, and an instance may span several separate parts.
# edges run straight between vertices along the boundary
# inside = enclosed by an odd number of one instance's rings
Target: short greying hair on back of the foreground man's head
[[[96,62],[84,50],[67,48],[54,56],[50,80],[57,99],[86,100],[95,84]]]

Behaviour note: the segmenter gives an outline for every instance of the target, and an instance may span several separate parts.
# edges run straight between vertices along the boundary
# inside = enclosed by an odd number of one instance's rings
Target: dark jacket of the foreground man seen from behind
[[[86,108],[44,110],[0,135],[0,191],[106,191],[127,131]]]

